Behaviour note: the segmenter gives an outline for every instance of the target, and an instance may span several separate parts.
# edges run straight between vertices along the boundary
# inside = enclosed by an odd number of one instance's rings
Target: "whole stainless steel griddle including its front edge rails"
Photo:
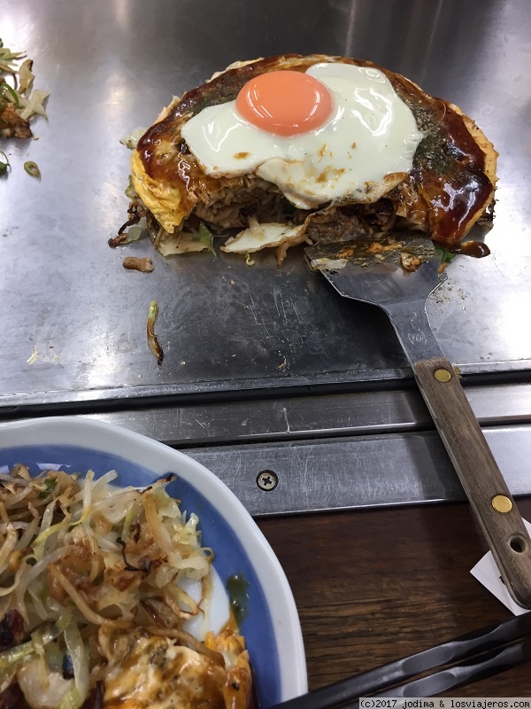
[[[302,252],[279,270],[272,254],[250,268],[107,245],[127,218],[119,139],[174,94],[235,59],[349,55],[456,103],[500,153],[492,253],[454,260],[428,314],[506,479],[531,493],[530,35],[526,0],[4,0],[4,45],[51,96],[37,141],[0,141],[0,418],[73,413],[191,448],[256,513],[459,495],[385,316],[336,297]],[[126,255],[156,268],[128,272]],[[262,492],[273,468],[281,483]]]

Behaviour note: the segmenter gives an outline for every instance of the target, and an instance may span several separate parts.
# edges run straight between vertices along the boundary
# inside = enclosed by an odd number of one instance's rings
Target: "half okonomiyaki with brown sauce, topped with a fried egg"
[[[275,248],[280,264],[304,241],[404,228],[451,249],[493,204],[496,151],[456,105],[400,74],[285,55],[237,62],[173,99],[131,176],[129,223],[145,215],[164,255],[208,248],[204,224],[239,230],[224,251]]]

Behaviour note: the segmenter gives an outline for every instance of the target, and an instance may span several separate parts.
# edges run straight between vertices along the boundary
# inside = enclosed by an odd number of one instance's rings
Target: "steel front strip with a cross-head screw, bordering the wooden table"
[[[492,428],[485,435],[512,495],[531,494],[529,429]],[[187,453],[214,471],[254,515],[466,499],[443,443],[432,432],[192,448]],[[257,461],[282,479],[267,495],[255,483]]]

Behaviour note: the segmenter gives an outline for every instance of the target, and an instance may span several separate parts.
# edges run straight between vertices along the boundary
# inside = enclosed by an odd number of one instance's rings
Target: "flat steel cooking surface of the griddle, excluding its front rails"
[[[145,242],[107,246],[127,210],[129,154],[119,138],[235,58],[281,51],[373,59],[460,105],[495,142],[492,255],[453,261],[428,313],[462,371],[531,369],[520,315],[531,301],[531,148],[515,141],[528,122],[526,0],[389,0],[385,11],[371,0],[231,8],[215,0],[153,0],[150,12],[141,0],[4,0],[4,42],[35,59],[51,96],[49,122],[35,123],[39,140],[9,145],[15,169],[1,185],[0,254],[9,268],[0,283],[0,405],[411,376],[385,316],[336,298],[300,253],[279,271],[271,255],[249,269],[227,254],[164,260]],[[301,31],[293,33],[289,17]],[[24,173],[25,160],[41,168],[40,183]],[[155,270],[125,272],[124,255],[151,255]],[[162,368],[144,346],[143,314],[154,299]],[[28,364],[34,347],[55,358]]]

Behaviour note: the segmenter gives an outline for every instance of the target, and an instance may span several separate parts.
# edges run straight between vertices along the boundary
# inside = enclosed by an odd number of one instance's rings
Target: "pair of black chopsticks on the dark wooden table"
[[[359,697],[432,697],[531,659],[531,613],[461,635],[271,709],[357,709]],[[461,662],[460,665],[456,663]],[[405,682],[443,667],[435,674]]]

